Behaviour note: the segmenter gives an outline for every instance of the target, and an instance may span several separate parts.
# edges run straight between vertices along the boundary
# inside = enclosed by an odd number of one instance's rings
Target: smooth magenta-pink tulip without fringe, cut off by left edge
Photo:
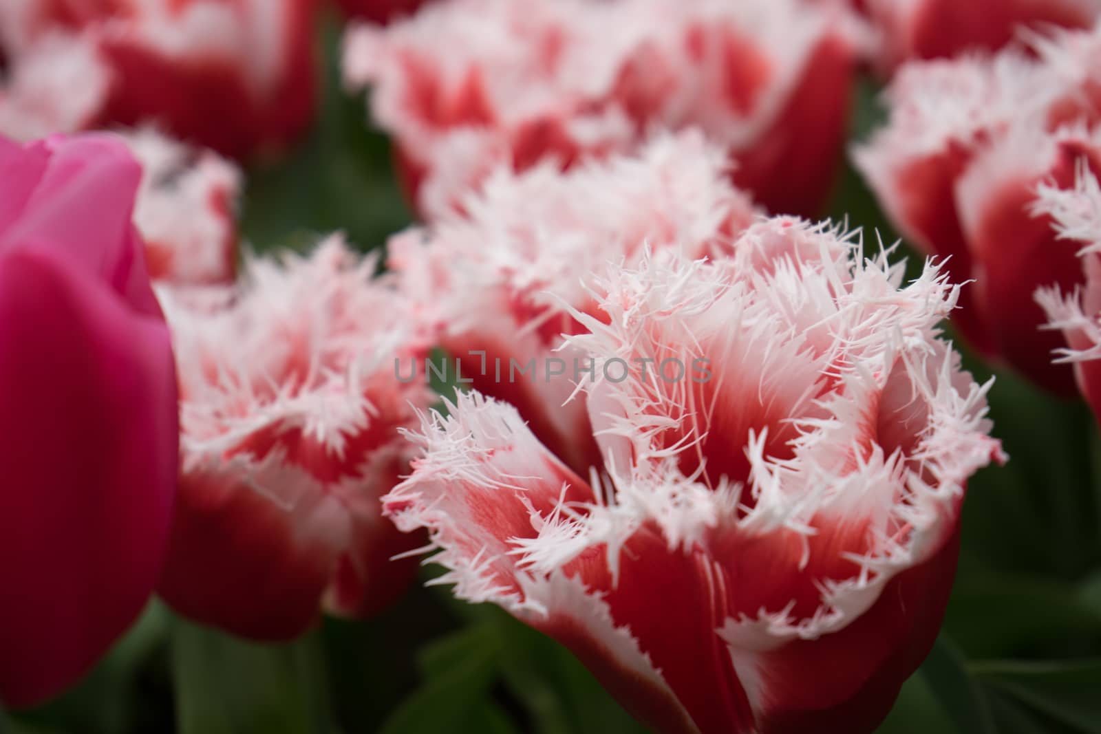
[[[144,606],[177,468],[168,330],[112,136],[0,139],[0,701],[79,678]]]

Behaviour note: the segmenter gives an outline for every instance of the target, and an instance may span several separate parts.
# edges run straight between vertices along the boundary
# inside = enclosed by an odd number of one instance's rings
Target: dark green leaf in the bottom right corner
[[[977,662],[971,672],[1073,731],[1101,734],[1101,660]]]

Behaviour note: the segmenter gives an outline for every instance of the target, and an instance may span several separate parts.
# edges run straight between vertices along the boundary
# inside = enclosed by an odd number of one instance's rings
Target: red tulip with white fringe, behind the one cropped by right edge
[[[955,316],[971,344],[1061,394],[1073,377],[1049,355],[1065,343],[1039,330],[1047,319],[1033,293],[1071,288],[1082,272],[1032,209],[1042,183],[1072,187],[1079,162],[1101,164],[1086,63],[1097,51],[1101,32],[1065,33],[1038,42],[1038,58],[1006,51],[907,65],[887,92],[886,127],[853,156],[896,228],[950,258],[955,281],[975,282]]]

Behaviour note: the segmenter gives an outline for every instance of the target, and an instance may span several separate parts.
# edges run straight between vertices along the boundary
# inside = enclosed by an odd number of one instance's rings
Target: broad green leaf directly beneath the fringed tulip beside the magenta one
[[[312,700],[319,666],[306,646],[259,645],[178,620],[172,667],[179,734],[326,734],[327,706]]]

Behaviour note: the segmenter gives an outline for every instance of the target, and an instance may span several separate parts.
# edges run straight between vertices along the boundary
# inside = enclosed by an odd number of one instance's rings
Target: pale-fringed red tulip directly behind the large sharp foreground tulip
[[[607,262],[637,262],[646,248],[722,252],[754,218],[728,167],[698,132],[565,174],[549,162],[519,174],[503,166],[464,200],[469,213],[392,238],[389,264],[453,372],[522,407],[539,439],[586,471],[598,451],[578,439],[590,432],[584,403],[567,402],[568,380],[546,377],[573,374],[577,355],[560,351],[562,335],[580,329],[568,309],[592,303],[581,281]],[[513,379],[530,369],[541,376]]]

